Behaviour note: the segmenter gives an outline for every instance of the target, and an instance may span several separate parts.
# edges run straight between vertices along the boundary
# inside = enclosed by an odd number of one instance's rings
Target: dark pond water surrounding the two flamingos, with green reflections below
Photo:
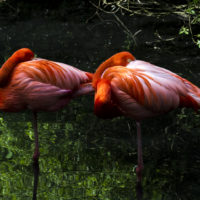
[[[40,5],[40,4],[38,4]],[[18,5],[20,6],[20,5]],[[137,59],[170,69],[199,84],[200,50],[178,36],[181,21],[121,16],[135,44],[111,15],[87,4],[37,5],[19,13],[1,9],[0,63],[16,49],[94,72],[112,54],[129,50]],[[0,7],[1,8],[1,7]],[[23,11],[23,12],[22,12]],[[90,20],[88,20],[90,19]],[[160,40],[156,32],[163,38]],[[170,41],[165,39],[175,38]],[[32,113],[0,113],[0,199],[32,198]],[[178,109],[142,123],[143,199],[200,199],[200,115]],[[93,97],[72,101],[56,113],[39,113],[40,200],[136,199],[136,127],[128,118],[100,120]]]

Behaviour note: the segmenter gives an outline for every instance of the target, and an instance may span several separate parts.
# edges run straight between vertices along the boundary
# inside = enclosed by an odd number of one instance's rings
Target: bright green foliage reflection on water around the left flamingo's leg
[[[32,127],[28,121],[12,122],[12,115],[7,120],[3,116],[0,118],[1,199],[30,199],[33,187]],[[80,122],[85,125],[80,127]],[[116,197],[128,200],[125,194],[133,190],[128,185],[135,184],[135,174],[120,172],[115,162],[113,168],[108,168],[106,162],[111,155],[105,158],[106,151],[98,152],[96,149],[97,154],[88,151],[87,135],[84,135],[88,127],[85,122],[84,113],[79,114],[74,123],[39,122],[41,157],[38,199],[111,200]],[[95,119],[90,125],[92,123]],[[92,171],[92,166],[96,170],[99,167],[96,166],[99,159],[105,169],[102,166],[102,170]],[[123,193],[122,197],[116,190]]]

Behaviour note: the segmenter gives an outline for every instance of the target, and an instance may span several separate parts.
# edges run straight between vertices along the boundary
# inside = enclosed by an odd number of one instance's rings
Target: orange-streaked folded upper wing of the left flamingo
[[[20,63],[14,72],[15,74],[25,73],[25,77],[65,89],[77,89],[80,84],[90,82],[86,72],[64,63],[45,59]],[[19,79],[23,78],[24,74],[21,74]]]

